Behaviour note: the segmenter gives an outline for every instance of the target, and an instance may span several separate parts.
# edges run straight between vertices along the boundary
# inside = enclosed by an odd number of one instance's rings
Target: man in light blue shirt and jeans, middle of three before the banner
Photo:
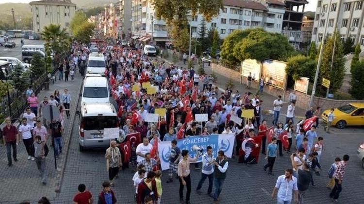
[[[200,195],[203,182],[205,182],[206,178],[209,177],[209,188],[207,189],[207,194],[210,195],[212,192],[213,182],[214,182],[214,162],[212,147],[206,147],[206,153],[202,155],[202,171],[201,171],[201,179],[199,180],[199,185],[197,186],[197,193]]]

